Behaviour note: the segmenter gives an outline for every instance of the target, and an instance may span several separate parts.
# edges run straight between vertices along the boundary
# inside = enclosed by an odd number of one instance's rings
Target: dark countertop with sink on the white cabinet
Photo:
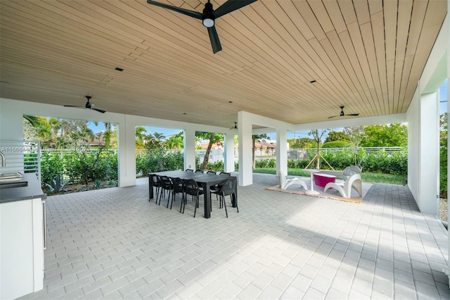
[[[41,185],[34,173],[25,173],[23,178],[17,182],[27,181],[27,187],[10,187],[0,189],[0,204],[21,201],[27,199],[46,199],[47,195],[42,192]]]

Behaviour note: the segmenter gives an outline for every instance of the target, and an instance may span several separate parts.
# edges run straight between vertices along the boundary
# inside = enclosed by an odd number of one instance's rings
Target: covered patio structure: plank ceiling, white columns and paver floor
[[[1,1],[0,141],[23,142],[23,115],[119,132],[120,188],[49,198],[44,290],[25,298],[449,299],[437,219],[449,3],[259,0],[217,20],[213,54],[198,20],[145,0]],[[409,125],[407,187],[351,204],[267,191],[276,177],[252,174],[252,135],[276,132],[287,173],[288,132],[386,123]],[[148,203],[138,125],[184,130],[184,168],[195,132],[217,132],[233,172],[238,135],[240,213],[215,208],[210,222]]]

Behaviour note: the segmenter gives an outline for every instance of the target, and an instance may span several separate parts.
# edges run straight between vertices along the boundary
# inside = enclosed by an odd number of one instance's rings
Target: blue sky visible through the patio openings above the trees
[[[447,98],[447,84],[448,82],[445,81],[444,84],[442,84],[442,86],[439,89],[439,94],[440,94],[440,113],[445,113],[447,111],[447,103],[446,103],[446,98]],[[96,126],[93,122],[89,122],[89,128],[91,128],[91,130],[93,130],[94,132],[99,132],[102,130],[105,130],[105,125],[103,123],[98,123],[98,125]],[[169,128],[161,128],[161,127],[148,127],[146,126],[146,130],[147,130],[147,135],[150,135],[150,133],[162,133],[162,135],[164,135],[165,137],[169,137],[171,135],[176,135],[177,133],[179,133],[181,130],[176,130],[176,129],[169,129]],[[308,135],[309,131],[297,131],[297,132],[288,132],[288,139],[294,139],[294,138],[299,138],[299,137],[310,137]],[[269,137],[271,140],[275,140],[276,139],[276,135],[275,134],[269,134]]]

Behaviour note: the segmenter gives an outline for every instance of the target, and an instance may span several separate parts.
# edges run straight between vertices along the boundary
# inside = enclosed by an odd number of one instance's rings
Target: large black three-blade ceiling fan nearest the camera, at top
[[[190,11],[188,9],[171,6],[167,4],[162,4],[157,1],[147,0],[148,4],[153,4],[155,6],[160,6],[163,8],[170,9],[172,11],[176,11],[177,13],[183,13],[184,15],[188,15],[192,18],[196,18],[203,21],[203,25],[207,27],[208,33],[210,35],[212,52],[215,54],[221,51],[222,47],[220,45],[219,36],[217,35],[216,27],[214,26],[214,20],[220,18],[222,15],[226,15],[227,13],[231,13],[232,11],[236,11],[236,9],[243,8],[248,4],[252,4],[257,0],[228,0],[216,10],[212,9],[212,4],[210,0],[205,3],[205,8],[203,8],[203,13],[199,13],[198,11]]]

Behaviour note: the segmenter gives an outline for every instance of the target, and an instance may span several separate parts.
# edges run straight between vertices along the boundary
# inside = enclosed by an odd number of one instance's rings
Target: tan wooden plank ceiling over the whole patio
[[[160,1],[199,12],[206,2]],[[293,124],[339,106],[404,113],[446,4],[259,0],[216,20],[213,54],[201,20],[146,0],[4,0],[0,96],[84,106],[90,95],[108,112],[222,127],[238,111]]]

